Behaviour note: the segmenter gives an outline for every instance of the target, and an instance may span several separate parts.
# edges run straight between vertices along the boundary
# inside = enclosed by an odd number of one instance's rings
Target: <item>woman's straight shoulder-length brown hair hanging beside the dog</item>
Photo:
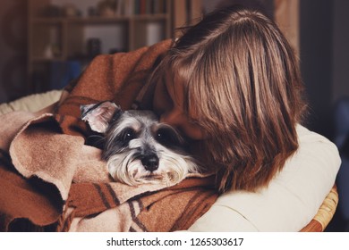
[[[305,104],[293,49],[257,11],[230,7],[187,29],[154,76],[183,83],[184,109],[209,134],[202,142],[217,187],[268,185],[298,147]],[[173,86],[175,88],[175,86]]]

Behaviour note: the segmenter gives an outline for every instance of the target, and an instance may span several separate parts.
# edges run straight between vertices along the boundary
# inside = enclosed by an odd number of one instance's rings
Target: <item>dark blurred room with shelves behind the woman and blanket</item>
[[[349,1],[347,0],[2,0],[0,104],[62,89],[98,54],[149,46],[228,4],[257,6],[300,57],[310,113],[305,125],[348,153]],[[347,123],[345,123],[347,122]],[[338,139],[340,137],[340,139]],[[344,161],[345,162],[345,161]],[[349,167],[328,230],[348,230]]]

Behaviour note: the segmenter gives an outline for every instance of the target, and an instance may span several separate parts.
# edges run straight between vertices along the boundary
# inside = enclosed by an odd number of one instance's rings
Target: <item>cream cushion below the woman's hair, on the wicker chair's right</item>
[[[302,125],[296,129],[300,146],[268,187],[226,192],[191,230],[299,231],[308,224],[333,187],[341,160],[328,138]]]

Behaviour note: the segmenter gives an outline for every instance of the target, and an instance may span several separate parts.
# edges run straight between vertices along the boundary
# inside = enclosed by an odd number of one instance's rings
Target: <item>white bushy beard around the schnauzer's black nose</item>
[[[197,172],[198,165],[191,156],[176,154],[164,146],[158,146],[159,158],[156,171],[147,171],[139,159],[138,149],[114,154],[107,160],[109,173],[116,181],[130,186],[141,184],[174,185],[185,179],[188,173]]]

